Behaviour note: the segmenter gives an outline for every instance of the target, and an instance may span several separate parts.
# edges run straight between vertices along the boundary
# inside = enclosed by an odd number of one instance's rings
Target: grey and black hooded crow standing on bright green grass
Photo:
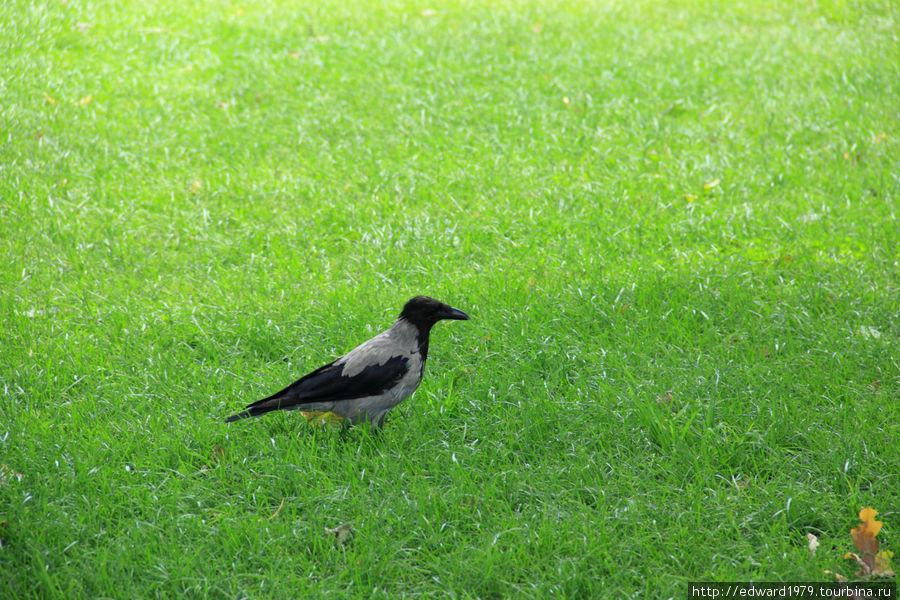
[[[409,398],[425,372],[428,335],[442,319],[469,315],[427,296],[416,296],[387,331],[298,379],[277,394],[226,419],[237,421],[273,410],[332,412],[356,424],[381,427],[389,410]]]

